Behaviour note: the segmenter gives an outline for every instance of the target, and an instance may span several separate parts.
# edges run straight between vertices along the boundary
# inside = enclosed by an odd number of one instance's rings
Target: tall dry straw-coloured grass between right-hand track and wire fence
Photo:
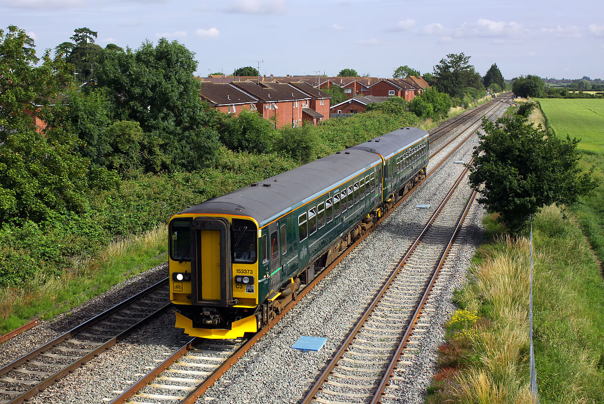
[[[530,403],[528,391],[528,290],[530,260],[528,240],[507,236],[506,251],[486,257],[472,268],[475,278],[458,295],[461,306],[490,308],[494,327],[471,333],[472,349],[480,369],[457,376],[455,396],[461,403]]]

